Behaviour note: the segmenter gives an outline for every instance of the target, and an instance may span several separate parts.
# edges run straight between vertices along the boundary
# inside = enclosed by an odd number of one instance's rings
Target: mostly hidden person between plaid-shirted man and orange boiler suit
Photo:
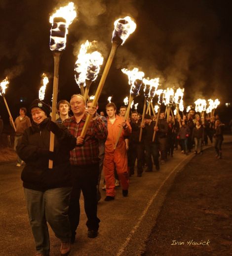
[[[86,103],[87,108],[91,108],[92,103],[93,103],[93,100],[88,100],[87,103]],[[96,109],[98,109],[98,102],[96,104]],[[106,117],[102,116],[102,115],[99,115],[98,112],[96,113],[96,116],[98,116],[104,122],[104,124],[107,127]],[[106,140],[99,140],[98,142],[99,142],[99,158],[100,158],[100,161],[99,161],[99,177],[98,177],[98,187],[97,187],[97,190],[98,190],[97,201],[99,202],[100,199],[101,199],[101,192],[100,192],[99,186],[100,186],[100,181],[101,181],[101,176],[102,176],[102,168],[103,168],[103,160],[104,160],[104,156],[105,156],[105,142],[106,142]]]

